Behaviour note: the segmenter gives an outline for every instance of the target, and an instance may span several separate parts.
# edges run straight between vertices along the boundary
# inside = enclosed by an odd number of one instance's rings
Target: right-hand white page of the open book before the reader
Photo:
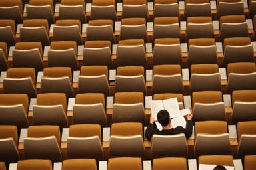
[[[169,98],[163,100],[163,107],[169,112],[170,118],[181,116],[177,98]]]

